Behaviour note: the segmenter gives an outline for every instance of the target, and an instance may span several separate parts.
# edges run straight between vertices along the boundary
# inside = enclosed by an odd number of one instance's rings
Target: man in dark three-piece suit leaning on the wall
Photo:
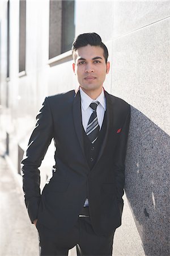
[[[130,106],[105,92],[107,47],[96,33],[73,43],[79,89],[47,97],[22,160],[29,217],[40,255],[112,255],[121,225]],[[40,195],[39,167],[54,138],[53,176]]]

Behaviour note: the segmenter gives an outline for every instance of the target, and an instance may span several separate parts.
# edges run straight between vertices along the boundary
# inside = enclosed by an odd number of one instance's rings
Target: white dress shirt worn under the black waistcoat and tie
[[[81,97],[81,108],[82,108],[82,125],[84,128],[84,131],[86,131],[88,121],[90,119],[91,114],[93,113],[92,108],[90,108],[90,104],[94,101],[99,101],[99,105],[97,106],[96,113],[97,113],[97,119],[98,123],[101,129],[101,126],[103,124],[104,119],[104,113],[106,110],[106,100],[104,96],[104,90],[100,93],[99,97],[96,98],[96,100],[93,100],[91,97],[89,97],[86,93],[83,92],[82,88],[80,88],[80,97]],[[84,207],[88,206],[88,199],[84,202]]]

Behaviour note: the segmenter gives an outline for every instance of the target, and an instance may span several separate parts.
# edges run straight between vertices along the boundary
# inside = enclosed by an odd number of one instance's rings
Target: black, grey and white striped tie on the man
[[[90,119],[88,121],[87,129],[86,129],[86,135],[90,139],[91,143],[93,144],[99,135],[99,123],[97,120],[97,114],[96,114],[96,108],[99,105],[98,101],[92,102],[90,104],[90,108],[94,110],[94,112],[91,114]]]

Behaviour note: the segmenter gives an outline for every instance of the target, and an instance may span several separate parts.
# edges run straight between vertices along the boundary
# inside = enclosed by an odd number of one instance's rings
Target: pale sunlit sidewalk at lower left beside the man
[[[0,255],[39,255],[38,236],[24,205],[22,188],[1,156]]]

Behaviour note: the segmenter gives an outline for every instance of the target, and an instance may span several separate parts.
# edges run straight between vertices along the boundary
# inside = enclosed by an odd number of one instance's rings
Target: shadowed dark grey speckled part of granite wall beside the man
[[[126,196],[146,255],[169,255],[170,138],[131,107]]]

